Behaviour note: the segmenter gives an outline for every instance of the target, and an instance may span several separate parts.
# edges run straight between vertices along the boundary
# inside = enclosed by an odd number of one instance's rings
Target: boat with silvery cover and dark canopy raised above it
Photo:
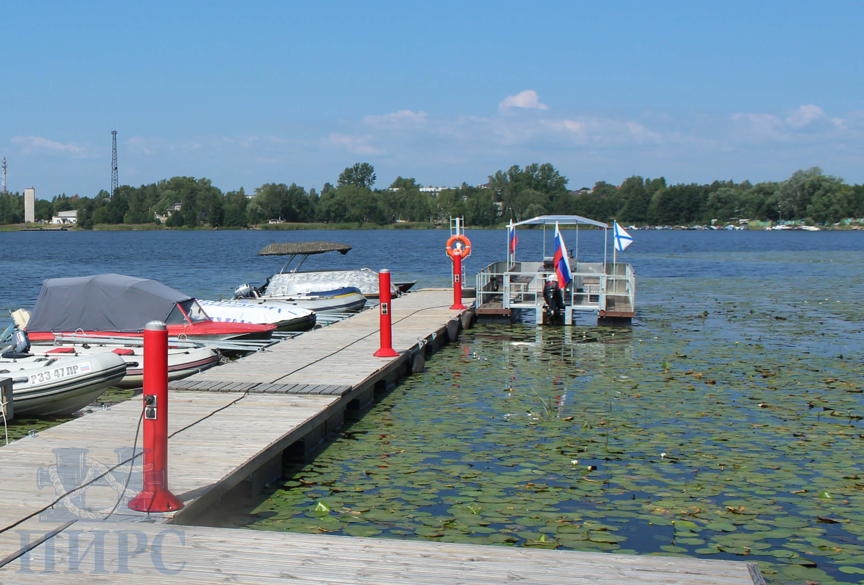
[[[368,268],[359,270],[300,270],[310,256],[339,252],[342,255],[351,250],[350,245],[335,242],[289,242],[274,243],[258,252],[258,256],[288,256],[282,270],[270,277],[258,293],[263,298],[298,300],[304,295],[321,296],[337,289],[356,288],[366,298],[378,298],[378,272]],[[292,266],[291,264],[296,263]],[[392,283],[391,295],[407,292],[414,282]],[[305,305],[300,305],[305,306]]]

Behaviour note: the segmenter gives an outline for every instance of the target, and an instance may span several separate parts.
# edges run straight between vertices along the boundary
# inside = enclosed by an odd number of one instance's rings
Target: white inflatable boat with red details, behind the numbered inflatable
[[[58,346],[32,346],[26,354],[16,354],[17,357],[15,358],[0,358],[0,368],[6,367],[4,364],[10,361],[23,363],[46,358],[67,359],[105,352],[117,354],[126,363],[126,375],[115,386],[118,388],[142,387],[144,349],[141,346],[81,342],[64,342]],[[207,347],[168,348],[168,380],[180,380],[213,366],[219,366],[221,359],[222,355],[219,352]]]

